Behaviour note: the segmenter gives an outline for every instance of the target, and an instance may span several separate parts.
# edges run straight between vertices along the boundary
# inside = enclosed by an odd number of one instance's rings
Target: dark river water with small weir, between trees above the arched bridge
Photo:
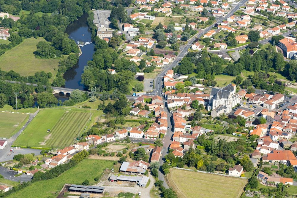
[[[88,15],[83,14],[82,17],[74,23],[71,23],[66,28],[65,33],[69,35],[70,39],[75,40],[75,42],[91,42],[91,31],[86,24],[87,18]],[[85,90],[85,87],[80,84],[81,74],[83,73],[83,68],[87,65],[87,62],[92,60],[92,56],[94,54],[94,44],[87,44],[80,47],[80,49],[82,54],[79,56],[78,63],[64,74],[66,88]]]

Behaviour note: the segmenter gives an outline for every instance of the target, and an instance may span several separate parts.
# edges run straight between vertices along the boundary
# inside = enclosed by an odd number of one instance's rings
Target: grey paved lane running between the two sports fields
[[[32,121],[32,119],[37,115],[37,113],[39,112],[40,110],[37,110],[34,114],[30,114],[29,115],[29,119],[28,121],[26,122],[26,124],[15,134],[13,135],[12,137],[10,137],[8,140],[7,140],[7,146],[4,147],[4,149],[1,149],[0,150],[0,162],[4,162],[4,161],[7,161],[7,160],[10,160],[10,158],[7,158],[9,156],[8,153],[10,151],[10,147],[11,145],[13,144],[13,142],[18,138],[18,136],[21,134],[21,132],[23,132],[23,130],[27,127],[27,125]],[[17,151],[16,151],[17,152]],[[7,159],[7,160],[5,160]]]

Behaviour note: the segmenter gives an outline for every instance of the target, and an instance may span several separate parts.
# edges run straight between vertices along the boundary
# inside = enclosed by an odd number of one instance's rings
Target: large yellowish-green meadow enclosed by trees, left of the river
[[[25,39],[21,44],[13,47],[0,57],[0,68],[3,71],[13,70],[21,76],[34,75],[37,71],[51,72],[53,78],[58,71],[60,59],[40,59],[35,58],[33,52],[36,51],[39,41],[45,41],[43,38]]]

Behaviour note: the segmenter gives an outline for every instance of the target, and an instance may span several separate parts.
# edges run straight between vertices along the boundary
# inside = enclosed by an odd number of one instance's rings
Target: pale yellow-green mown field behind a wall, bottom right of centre
[[[247,179],[170,169],[166,176],[178,197],[240,197]]]

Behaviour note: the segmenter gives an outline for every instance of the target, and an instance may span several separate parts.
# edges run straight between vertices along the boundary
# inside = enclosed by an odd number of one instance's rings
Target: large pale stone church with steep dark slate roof
[[[216,117],[230,112],[239,102],[240,96],[236,94],[236,85],[230,83],[222,89],[212,88],[208,110],[212,109],[211,116]]]

